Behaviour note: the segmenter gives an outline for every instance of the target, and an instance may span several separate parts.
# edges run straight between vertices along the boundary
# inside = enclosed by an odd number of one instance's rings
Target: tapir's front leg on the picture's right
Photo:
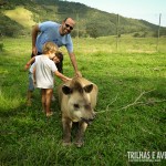
[[[84,132],[86,131],[87,124],[85,122],[80,122],[79,123],[79,129],[76,134],[76,141],[75,145],[77,147],[81,147],[84,144],[83,137],[84,137]]]

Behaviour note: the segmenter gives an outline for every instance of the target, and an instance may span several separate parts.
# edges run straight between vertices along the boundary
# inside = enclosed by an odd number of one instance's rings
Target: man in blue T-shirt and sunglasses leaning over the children
[[[32,56],[41,54],[42,46],[48,41],[54,42],[59,48],[65,45],[75,75],[81,76],[81,73],[77,70],[76,58],[73,52],[73,42],[70,35],[74,25],[75,21],[72,18],[66,18],[62,21],[62,24],[52,21],[35,24],[32,29]],[[58,64],[58,69],[62,72],[62,61]]]

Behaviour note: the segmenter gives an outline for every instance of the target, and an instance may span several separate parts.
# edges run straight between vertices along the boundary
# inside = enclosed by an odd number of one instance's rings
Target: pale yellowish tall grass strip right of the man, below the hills
[[[132,35],[102,37],[97,39],[75,39],[75,46],[82,53],[93,52],[121,52],[121,53],[155,53],[166,52],[166,39],[160,38],[132,38]]]

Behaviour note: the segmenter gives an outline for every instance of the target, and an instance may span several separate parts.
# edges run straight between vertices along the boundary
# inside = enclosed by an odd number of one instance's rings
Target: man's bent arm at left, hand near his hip
[[[40,32],[40,29],[39,29],[39,24],[35,24],[33,28],[32,28],[32,53],[35,55],[38,53],[38,50],[35,48],[35,41],[37,41],[37,37],[38,37],[38,33]]]

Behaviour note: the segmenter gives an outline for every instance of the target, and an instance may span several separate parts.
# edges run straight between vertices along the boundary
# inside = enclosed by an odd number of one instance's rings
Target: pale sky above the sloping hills
[[[166,0],[66,0],[80,2],[108,13],[125,18],[142,19],[154,24],[166,27]]]

